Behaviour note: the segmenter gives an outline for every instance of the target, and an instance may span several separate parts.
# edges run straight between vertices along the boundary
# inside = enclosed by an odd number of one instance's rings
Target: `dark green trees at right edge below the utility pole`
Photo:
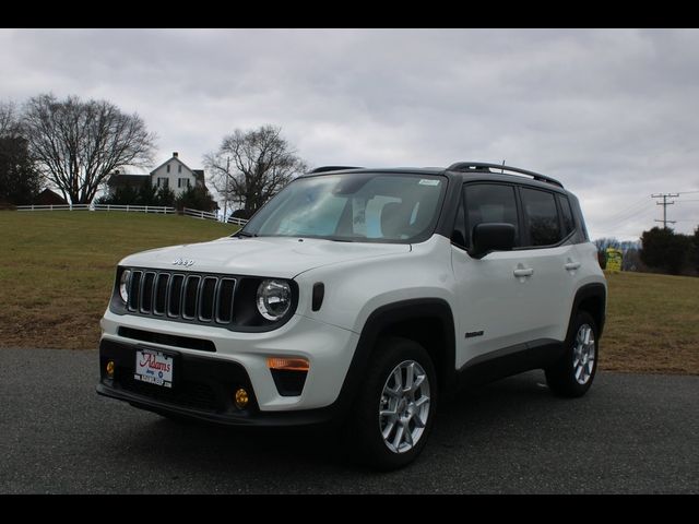
[[[594,243],[603,269],[606,264],[606,249],[615,248],[624,252],[621,269],[625,271],[699,276],[699,226],[694,235],[653,227],[643,231],[639,242],[600,238]]]

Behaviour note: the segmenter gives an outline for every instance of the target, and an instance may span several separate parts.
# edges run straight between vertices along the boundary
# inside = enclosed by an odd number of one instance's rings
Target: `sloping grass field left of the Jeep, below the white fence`
[[[237,229],[174,215],[0,211],[0,346],[95,348],[119,260]]]

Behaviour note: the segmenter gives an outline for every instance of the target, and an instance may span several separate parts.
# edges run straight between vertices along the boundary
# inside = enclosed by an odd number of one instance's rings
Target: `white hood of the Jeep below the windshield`
[[[410,245],[336,242],[316,238],[224,237],[202,243],[152,249],[127,257],[120,265],[204,273],[293,278],[313,267],[351,260],[407,253]],[[190,266],[174,265],[178,259]]]

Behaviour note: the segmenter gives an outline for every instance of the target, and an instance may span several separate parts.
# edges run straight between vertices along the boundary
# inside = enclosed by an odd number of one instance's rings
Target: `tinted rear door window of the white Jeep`
[[[521,188],[524,227],[530,246],[552,246],[562,239],[554,193]]]

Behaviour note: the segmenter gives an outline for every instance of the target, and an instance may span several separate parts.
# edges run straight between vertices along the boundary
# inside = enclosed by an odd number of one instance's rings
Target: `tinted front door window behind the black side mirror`
[[[465,245],[471,247],[473,228],[482,223],[497,222],[514,226],[514,246],[519,246],[519,225],[514,188],[499,183],[464,186]]]

